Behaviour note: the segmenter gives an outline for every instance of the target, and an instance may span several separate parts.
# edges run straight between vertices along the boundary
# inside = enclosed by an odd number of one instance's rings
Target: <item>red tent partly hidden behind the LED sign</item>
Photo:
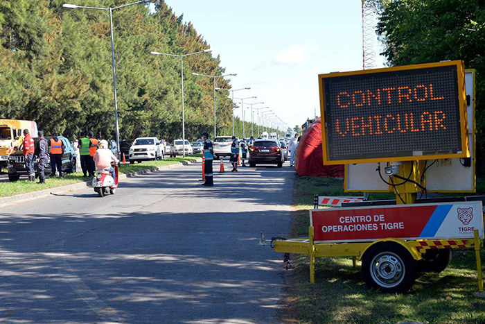
[[[301,136],[297,149],[296,166],[298,176],[344,177],[343,165],[325,165],[321,151],[321,123],[314,121]]]

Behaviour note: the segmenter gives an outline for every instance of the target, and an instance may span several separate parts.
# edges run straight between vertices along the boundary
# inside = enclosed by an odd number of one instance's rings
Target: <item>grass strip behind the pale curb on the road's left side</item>
[[[186,157],[170,157],[160,161],[148,161],[136,164],[121,165],[120,173],[130,173],[135,171],[142,171],[152,169],[154,167],[162,167],[169,164],[182,163],[184,161],[194,160],[197,157],[202,157],[200,154],[188,155]],[[39,185],[37,182],[30,182],[28,180],[19,180],[15,182],[0,182],[0,197],[14,196],[17,194],[26,194],[32,191],[39,191],[43,189],[50,189],[61,187],[65,185],[73,185],[74,183],[83,182],[87,180],[82,177],[82,173],[76,172],[63,176],[62,178],[48,178],[46,183]]]

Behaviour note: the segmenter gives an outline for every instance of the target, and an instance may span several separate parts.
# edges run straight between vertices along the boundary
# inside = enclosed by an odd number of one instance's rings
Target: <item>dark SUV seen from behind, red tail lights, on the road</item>
[[[256,167],[256,164],[276,164],[281,168],[283,162],[283,150],[276,139],[258,139],[249,149],[249,167]]]

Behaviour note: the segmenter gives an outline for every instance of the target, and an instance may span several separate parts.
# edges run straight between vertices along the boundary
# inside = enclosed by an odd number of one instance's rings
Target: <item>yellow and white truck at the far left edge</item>
[[[0,119],[0,167],[7,167],[8,156],[20,147],[24,140],[24,129],[37,137],[37,123],[15,119]]]

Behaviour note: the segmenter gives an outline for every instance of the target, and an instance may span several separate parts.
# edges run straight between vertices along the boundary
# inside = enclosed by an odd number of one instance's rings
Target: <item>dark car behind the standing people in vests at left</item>
[[[45,137],[47,142],[51,140],[51,137]],[[62,155],[62,172],[74,173],[76,172],[76,153],[74,153],[74,148],[71,146],[69,139],[63,136],[58,136],[58,139],[64,143],[64,154]],[[39,142],[38,138],[34,139],[35,145]],[[35,177],[37,178],[37,162],[34,162]],[[46,176],[51,174],[51,161],[47,159],[45,164]],[[28,176],[28,170],[25,167],[24,153],[22,152],[22,146],[20,146],[15,153],[12,153],[8,157],[8,180],[17,181],[20,176]]]

